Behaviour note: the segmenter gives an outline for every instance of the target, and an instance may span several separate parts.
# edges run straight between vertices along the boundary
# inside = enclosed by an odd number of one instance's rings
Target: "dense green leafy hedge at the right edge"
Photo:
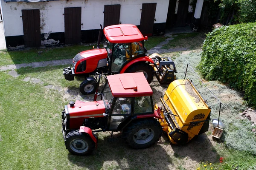
[[[244,92],[256,107],[256,23],[223,26],[207,34],[198,66],[209,80]]]

